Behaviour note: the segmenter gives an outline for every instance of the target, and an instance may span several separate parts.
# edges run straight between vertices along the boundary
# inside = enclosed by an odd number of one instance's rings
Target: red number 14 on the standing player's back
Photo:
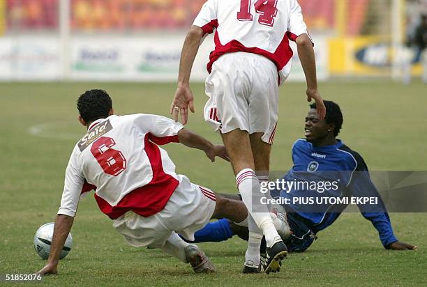
[[[250,14],[250,1],[240,0],[240,11],[237,12],[237,20],[253,21],[253,16]],[[258,23],[272,27],[274,25],[274,17],[277,15],[277,0],[257,0],[254,5],[256,13],[260,14]]]

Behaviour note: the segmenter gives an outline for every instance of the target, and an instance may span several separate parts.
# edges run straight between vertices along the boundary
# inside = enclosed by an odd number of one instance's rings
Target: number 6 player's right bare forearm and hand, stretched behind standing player
[[[215,162],[215,157],[221,157],[222,159],[227,160],[227,162],[230,162],[225,146],[213,144],[207,139],[204,139],[204,137],[201,137],[190,130],[179,130],[178,139],[184,146],[203,150],[211,162]]]

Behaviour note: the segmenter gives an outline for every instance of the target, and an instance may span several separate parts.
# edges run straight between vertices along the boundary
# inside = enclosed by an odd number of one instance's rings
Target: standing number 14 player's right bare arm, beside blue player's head
[[[322,100],[322,96],[317,90],[317,75],[316,75],[316,61],[313,49],[313,42],[307,34],[301,34],[297,40],[298,56],[301,65],[306,75],[307,82],[307,101],[315,100],[317,114],[322,119],[326,115],[326,107]]]

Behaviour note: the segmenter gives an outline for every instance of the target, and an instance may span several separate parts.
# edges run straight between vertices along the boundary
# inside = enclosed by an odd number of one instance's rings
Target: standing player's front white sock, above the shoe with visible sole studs
[[[271,247],[274,243],[280,241],[273,221],[270,217],[270,212],[267,205],[261,204],[260,199],[264,194],[260,192],[260,181],[252,169],[244,169],[236,176],[237,188],[239,189],[241,199],[244,201],[249,214],[257,224],[258,228],[264,233],[267,247]],[[254,199],[254,205],[253,205]],[[253,208],[256,206],[256,210]],[[256,211],[256,212],[255,212]]]

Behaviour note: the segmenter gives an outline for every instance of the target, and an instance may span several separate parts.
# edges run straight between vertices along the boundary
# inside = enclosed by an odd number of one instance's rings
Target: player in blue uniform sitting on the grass
[[[338,182],[338,188],[318,192],[302,188],[291,190],[275,189],[271,191],[274,198],[287,199],[290,204],[283,205],[287,212],[287,221],[292,235],[285,240],[288,251],[305,251],[315,240],[317,233],[331,226],[346,208],[347,204],[317,204],[308,205],[297,201],[294,197],[320,198],[334,196],[376,197],[379,202],[375,205],[359,205],[362,215],[377,229],[382,245],[386,249],[409,250],[416,249],[398,241],[387,210],[380,199],[377,189],[370,180],[368,167],[359,153],[351,150],[343,141],[336,139],[343,124],[343,114],[335,102],[324,101],[327,107],[326,118],[320,120],[316,113],[315,104],[310,105],[306,117],[305,139],[299,139],[292,147],[293,166],[283,180],[287,182]],[[196,242],[223,241],[239,235],[246,238],[247,229],[232,224],[227,219],[212,222],[195,234]]]

